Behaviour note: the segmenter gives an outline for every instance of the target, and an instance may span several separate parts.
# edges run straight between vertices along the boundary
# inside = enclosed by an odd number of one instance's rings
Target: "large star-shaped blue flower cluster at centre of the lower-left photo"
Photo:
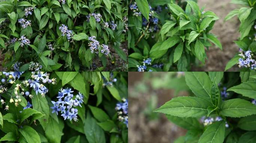
[[[70,119],[70,121],[73,119],[74,121],[77,121],[77,114],[78,109],[74,108],[77,106],[82,107],[83,103],[83,95],[79,92],[75,97],[72,94],[74,91],[71,89],[60,89],[60,92],[58,92],[58,101],[52,101],[52,104],[54,105],[52,108],[52,113],[56,112],[58,115],[58,112],[61,112],[61,116],[66,119]]]

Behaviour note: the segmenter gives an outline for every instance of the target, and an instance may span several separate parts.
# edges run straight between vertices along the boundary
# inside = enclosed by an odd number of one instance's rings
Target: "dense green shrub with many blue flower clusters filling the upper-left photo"
[[[1,1],[3,66],[10,70],[21,62],[21,71],[34,64],[44,71],[102,71],[116,60],[125,63],[127,16],[125,0]],[[115,70],[127,68],[118,66]]]

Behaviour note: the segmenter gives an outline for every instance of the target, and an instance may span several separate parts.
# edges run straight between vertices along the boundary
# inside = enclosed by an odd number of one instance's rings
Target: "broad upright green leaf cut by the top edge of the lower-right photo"
[[[186,72],[186,83],[192,92],[199,98],[211,102],[211,81],[205,72]]]

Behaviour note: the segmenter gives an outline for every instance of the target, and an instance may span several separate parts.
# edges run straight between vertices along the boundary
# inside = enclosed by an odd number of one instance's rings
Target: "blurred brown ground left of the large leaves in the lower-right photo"
[[[146,73],[150,74],[150,73]],[[156,73],[153,73],[154,76]],[[171,100],[174,90],[153,90],[150,88],[150,80],[143,81],[143,73],[128,73],[128,96],[129,96],[129,143],[173,143],[179,136],[185,135],[186,130],[174,125],[164,114],[159,114],[158,120],[149,120],[143,114],[146,103],[155,93],[158,98],[158,107]],[[136,91],[137,84],[145,84],[149,90],[147,92]],[[132,95],[135,93],[137,96]]]

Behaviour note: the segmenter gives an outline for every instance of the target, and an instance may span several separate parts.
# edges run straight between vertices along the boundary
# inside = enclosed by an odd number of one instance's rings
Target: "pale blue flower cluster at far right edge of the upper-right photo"
[[[242,49],[240,49],[239,53],[242,58],[238,60],[238,67],[245,67],[256,70],[256,61],[253,59],[252,51],[243,51]]]

